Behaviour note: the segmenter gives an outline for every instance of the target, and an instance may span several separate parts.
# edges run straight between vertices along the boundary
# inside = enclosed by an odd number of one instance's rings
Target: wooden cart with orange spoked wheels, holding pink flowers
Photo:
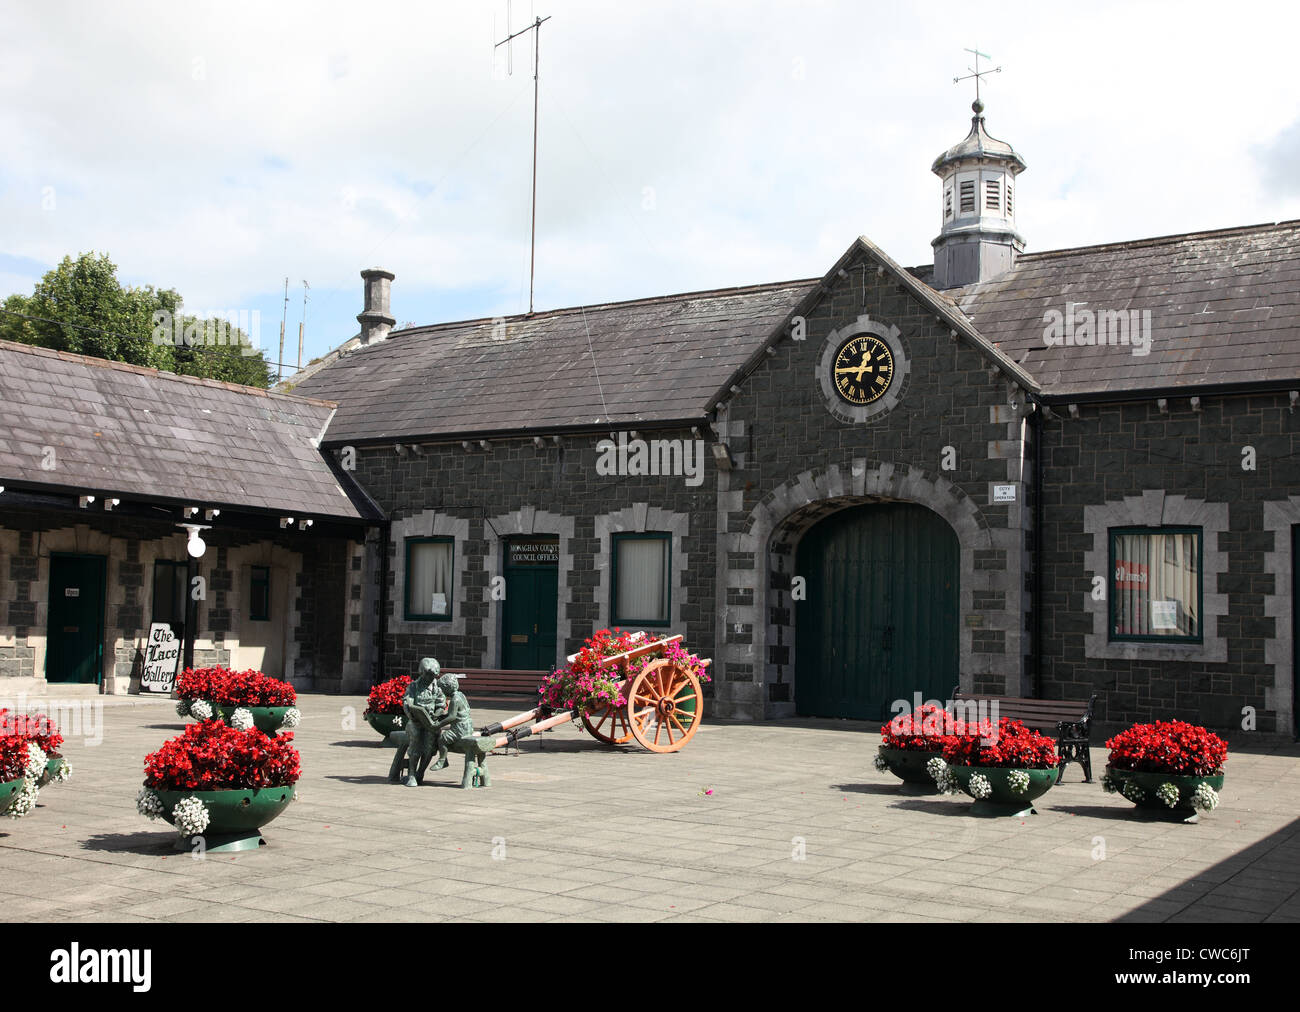
[[[607,666],[632,661],[680,639],[677,635],[642,643],[625,653],[604,657],[599,663]],[[568,659],[573,661],[572,657]],[[668,658],[651,661],[640,674],[620,682],[619,695],[627,700],[625,705],[581,714],[582,725],[592,736],[610,745],[636,740],[651,752],[677,752],[696,736],[705,715],[699,679]],[[573,717],[573,710],[554,712],[550,706],[536,706],[508,721],[482,727],[478,734],[482,738],[497,736],[493,748],[504,748],[529,735],[568,723]]]

